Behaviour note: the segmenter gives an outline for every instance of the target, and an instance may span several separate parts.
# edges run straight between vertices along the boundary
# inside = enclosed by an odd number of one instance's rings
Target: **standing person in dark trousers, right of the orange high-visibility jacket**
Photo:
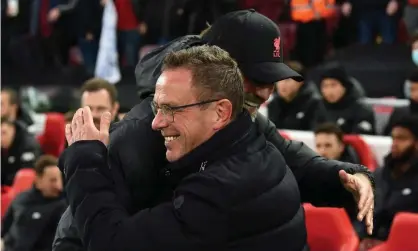
[[[355,15],[358,25],[359,42],[374,44],[377,30],[384,44],[396,42],[398,34],[398,0],[346,0],[341,5],[344,16]]]

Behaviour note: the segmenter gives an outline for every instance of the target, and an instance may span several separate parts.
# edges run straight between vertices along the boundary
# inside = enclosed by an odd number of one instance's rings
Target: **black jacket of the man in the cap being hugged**
[[[151,129],[154,118],[150,107],[151,99],[147,98],[135,106],[121,122],[111,128],[109,164],[114,179],[127,185],[126,189],[130,193],[124,192],[123,189],[117,193],[120,201],[132,213],[171,198],[167,196],[171,195],[170,185],[160,178],[161,174],[165,173],[163,167],[167,163],[166,149],[161,134]],[[303,202],[310,202],[316,206],[355,208],[353,197],[341,185],[338,172],[367,172],[365,167],[326,160],[302,142],[285,140],[277,132],[274,124],[261,114],[258,115],[255,124],[267,140],[282,153],[297,179]],[[71,214],[68,213],[66,217],[71,218]],[[73,242],[75,237],[72,234],[76,230],[66,228],[75,225],[61,221],[57,229],[54,251],[71,250],[64,247],[80,243]]]

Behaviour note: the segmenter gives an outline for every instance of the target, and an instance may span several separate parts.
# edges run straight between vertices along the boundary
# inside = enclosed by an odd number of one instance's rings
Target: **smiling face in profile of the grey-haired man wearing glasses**
[[[207,141],[216,132],[216,102],[204,106],[178,106],[195,104],[198,90],[193,86],[191,71],[185,68],[165,70],[157,81],[154,105],[154,130],[160,130],[167,148],[166,157],[176,161]]]

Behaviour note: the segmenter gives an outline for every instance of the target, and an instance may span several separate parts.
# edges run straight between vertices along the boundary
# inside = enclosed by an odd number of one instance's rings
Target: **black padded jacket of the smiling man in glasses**
[[[297,182],[247,112],[165,168],[171,202],[133,216],[113,190],[105,145],[66,151],[67,197],[91,251],[305,249]]]

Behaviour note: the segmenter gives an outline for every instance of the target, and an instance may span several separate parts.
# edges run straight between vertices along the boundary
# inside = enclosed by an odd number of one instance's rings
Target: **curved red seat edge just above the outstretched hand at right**
[[[358,135],[345,135],[344,143],[354,148],[362,165],[374,171],[378,166],[373,151],[369,145]]]

